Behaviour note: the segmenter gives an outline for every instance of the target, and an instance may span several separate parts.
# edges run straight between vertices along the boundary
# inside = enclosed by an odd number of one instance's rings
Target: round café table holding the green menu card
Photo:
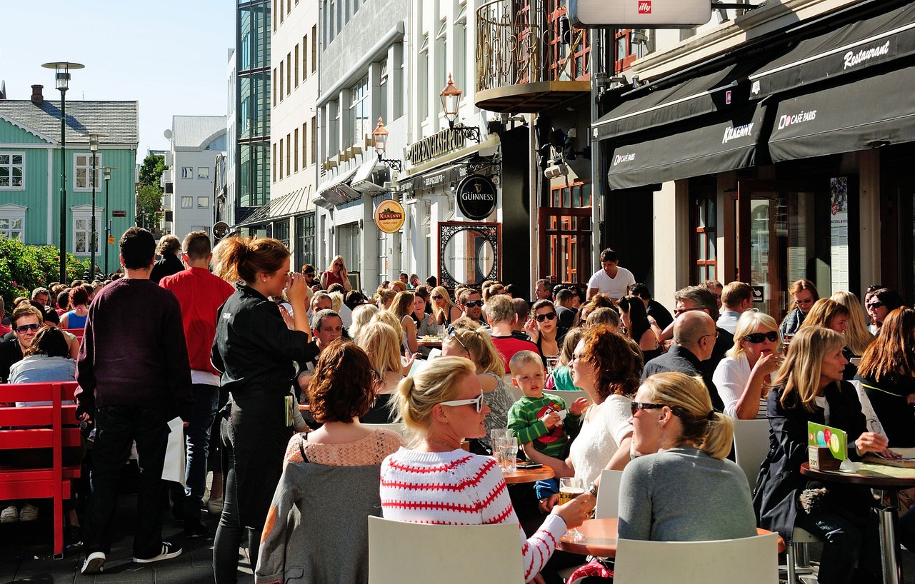
[[[915,487],[915,468],[860,462],[856,472],[852,473],[812,469],[809,463],[804,462],[801,465],[801,474],[827,483],[860,484],[883,494],[880,500],[888,503],[880,504],[877,510],[880,520],[883,582],[899,584],[902,581],[902,563],[895,531],[896,518],[899,516],[899,490]]]

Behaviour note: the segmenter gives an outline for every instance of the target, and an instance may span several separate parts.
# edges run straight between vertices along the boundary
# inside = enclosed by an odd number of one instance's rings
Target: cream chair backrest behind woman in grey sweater
[[[779,535],[617,543],[614,584],[778,584]]]

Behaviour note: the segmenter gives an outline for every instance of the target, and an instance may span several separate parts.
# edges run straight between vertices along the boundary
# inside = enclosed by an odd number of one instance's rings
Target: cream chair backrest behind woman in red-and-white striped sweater
[[[369,517],[369,584],[430,581],[522,584],[518,525],[430,526]]]

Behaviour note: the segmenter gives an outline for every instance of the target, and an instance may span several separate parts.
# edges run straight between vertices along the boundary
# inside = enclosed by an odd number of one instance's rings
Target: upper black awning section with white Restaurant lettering
[[[778,38],[773,38],[777,42]],[[915,4],[804,38],[749,76],[750,95],[773,93],[860,72],[915,54]]]

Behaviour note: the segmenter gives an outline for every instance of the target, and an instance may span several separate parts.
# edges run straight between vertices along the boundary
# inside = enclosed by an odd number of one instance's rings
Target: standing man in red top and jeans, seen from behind
[[[193,416],[185,430],[188,445],[185,478],[188,486],[181,497],[183,500],[175,502],[179,509],[183,507],[183,514],[178,511],[177,515],[184,516],[185,537],[206,536],[208,533],[207,526],[200,521],[200,505],[207,480],[210,428],[216,418],[220,398],[220,376],[210,364],[210,348],[216,336],[216,314],[222,303],[235,292],[229,282],[210,273],[212,257],[207,232],[192,231],[181,245],[181,260],[188,269],[159,281],[160,286],[174,292],[181,305],[193,384]]]

